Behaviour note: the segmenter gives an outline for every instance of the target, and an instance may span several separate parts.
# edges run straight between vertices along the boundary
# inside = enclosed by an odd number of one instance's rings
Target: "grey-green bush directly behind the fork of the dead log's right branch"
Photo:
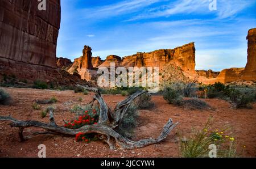
[[[134,134],[134,128],[137,126],[138,106],[131,104],[127,113],[123,116],[121,123],[118,126],[117,132],[124,137],[131,138]]]

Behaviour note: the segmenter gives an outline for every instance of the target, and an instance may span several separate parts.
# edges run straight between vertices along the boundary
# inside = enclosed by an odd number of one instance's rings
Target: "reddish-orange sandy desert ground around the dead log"
[[[92,100],[93,93],[89,95],[75,94],[73,91],[49,91],[24,88],[5,88],[13,97],[13,105],[0,105],[0,116],[13,116],[19,120],[38,120],[48,122],[47,118],[41,119],[40,112],[32,109],[36,99],[49,99],[56,96],[58,102],[54,105],[55,120],[58,125],[63,125],[63,120],[69,120],[74,115],[69,111],[75,104],[85,104]],[[79,102],[82,98],[82,102]],[[125,99],[121,95],[105,95],[104,99],[114,108],[117,102]],[[202,129],[210,116],[213,117],[212,129],[225,129],[229,127],[228,134],[238,141],[238,149],[246,146],[243,156],[256,157],[256,104],[253,109],[230,109],[230,104],[224,100],[205,99],[215,110],[200,111],[178,108],[167,104],[162,96],[152,96],[155,108],[151,111],[139,111],[139,124],[135,130],[134,140],[148,137],[158,137],[163,125],[172,118],[179,125],[171,132],[167,139],[157,145],[134,150],[109,150],[107,145],[100,141],[75,142],[74,138],[40,135],[32,136],[25,142],[19,142],[18,129],[10,128],[9,122],[0,121],[0,157],[38,157],[38,145],[46,145],[47,157],[179,157],[177,132],[188,136],[192,128]],[[24,136],[41,129],[28,128]]]

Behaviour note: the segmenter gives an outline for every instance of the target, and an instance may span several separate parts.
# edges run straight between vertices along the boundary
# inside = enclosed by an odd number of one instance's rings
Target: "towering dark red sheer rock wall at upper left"
[[[0,0],[0,70],[22,78],[54,77],[60,0]]]

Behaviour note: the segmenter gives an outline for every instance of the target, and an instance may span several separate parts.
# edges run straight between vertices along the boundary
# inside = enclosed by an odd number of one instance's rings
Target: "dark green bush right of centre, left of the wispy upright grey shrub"
[[[182,96],[180,96],[180,92],[172,89],[171,87],[164,88],[163,94],[164,100],[167,100],[169,104],[181,105]]]

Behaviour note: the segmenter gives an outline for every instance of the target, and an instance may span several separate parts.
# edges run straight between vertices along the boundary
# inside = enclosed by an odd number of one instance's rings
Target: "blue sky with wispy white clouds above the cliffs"
[[[244,67],[255,0],[61,0],[57,57],[129,56],[195,41],[196,69]]]

